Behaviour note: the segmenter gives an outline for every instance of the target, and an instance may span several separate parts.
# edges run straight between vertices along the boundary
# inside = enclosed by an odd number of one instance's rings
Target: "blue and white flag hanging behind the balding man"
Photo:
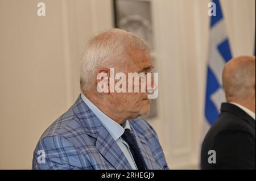
[[[220,2],[213,0],[213,3],[216,5],[216,16],[210,16],[210,45],[205,98],[205,117],[210,125],[216,121],[221,103],[225,102],[221,81],[222,69],[226,62],[232,58]]]

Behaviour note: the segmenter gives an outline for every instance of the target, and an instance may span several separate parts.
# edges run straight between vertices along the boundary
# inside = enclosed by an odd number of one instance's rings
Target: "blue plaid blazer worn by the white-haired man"
[[[158,136],[150,124],[141,118],[129,123],[146,168],[168,169]],[[79,95],[75,104],[43,133],[34,151],[32,169],[123,170],[131,166]]]

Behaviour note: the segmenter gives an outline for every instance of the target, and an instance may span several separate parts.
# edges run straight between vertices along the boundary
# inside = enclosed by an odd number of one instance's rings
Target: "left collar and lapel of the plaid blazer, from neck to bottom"
[[[76,103],[72,107],[76,116],[80,119],[86,134],[96,139],[95,147],[115,169],[132,169],[122,150],[119,148],[114,138],[106,130],[104,125],[96,115],[89,109],[79,95]],[[102,159],[98,159],[99,165],[104,165]],[[106,169],[102,167],[100,169]]]

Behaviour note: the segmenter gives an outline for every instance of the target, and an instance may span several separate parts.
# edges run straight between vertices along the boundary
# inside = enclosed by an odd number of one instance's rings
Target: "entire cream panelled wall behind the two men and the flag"
[[[92,33],[113,26],[112,0],[0,0],[0,169],[30,169],[43,131],[79,94]],[[196,168],[204,121],[208,0],[152,0],[159,116],[150,120],[173,169]],[[255,1],[221,1],[233,54],[252,54]]]

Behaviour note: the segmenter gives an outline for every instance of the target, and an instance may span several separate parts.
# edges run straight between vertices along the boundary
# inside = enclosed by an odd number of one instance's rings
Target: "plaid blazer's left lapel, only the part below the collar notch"
[[[132,169],[122,150],[103,125],[101,125],[100,131],[98,132],[95,146],[101,155],[108,160],[115,169]]]

